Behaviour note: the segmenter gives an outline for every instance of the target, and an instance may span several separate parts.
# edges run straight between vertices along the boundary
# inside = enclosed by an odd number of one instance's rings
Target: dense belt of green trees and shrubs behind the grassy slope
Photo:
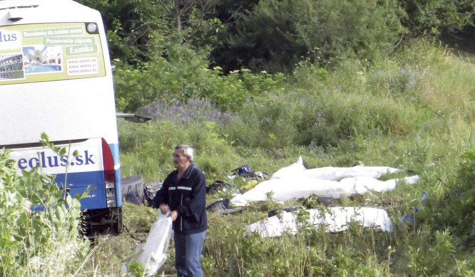
[[[462,26],[473,6],[462,0],[81,2],[104,18],[123,111],[189,98],[235,110],[253,97],[252,88],[237,83],[238,69],[291,73],[303,60],[317,68],[346,58],[372,61],[390,52],[407,28],[406,37],[417,37]]]

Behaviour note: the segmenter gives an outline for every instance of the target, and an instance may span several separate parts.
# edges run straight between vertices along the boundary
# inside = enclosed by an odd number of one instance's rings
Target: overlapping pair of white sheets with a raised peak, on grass
[[[307,198],[311,194],[340,198],[343,195],[362,195],[368,191],[394,190],[398,182],[414,184],[419,180],[417,175],[387,181],[376,179],[376,176],[380,177],[384,173],[399,171],[399,169],[389,167],[365,166],[352,168],[324,167],[306,170],[302,163],[302,157],[299,157],[292,165],[274,173],[270,180],[263,181],[252,190],[235,196],[231,199],[231,203],[236,206],[245,206],[247,203],[244,203],[243,199],[247,202],[266,201],[271,196],[272,201],[279,202]],[[307,172],[315,174],[306,174]],[[347,177],[340,178],[341,176]]]

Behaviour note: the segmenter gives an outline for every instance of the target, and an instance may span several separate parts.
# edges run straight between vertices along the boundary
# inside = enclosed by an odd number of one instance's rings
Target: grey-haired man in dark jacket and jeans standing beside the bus
[[[175,267],[178,277],[202,277],[201,251],[208,228],[206,180],[195,168],[193,148],[180,144],[173,152],[172,171],[157,191],[153,202],[162,214],[170,210],[173,221]]]

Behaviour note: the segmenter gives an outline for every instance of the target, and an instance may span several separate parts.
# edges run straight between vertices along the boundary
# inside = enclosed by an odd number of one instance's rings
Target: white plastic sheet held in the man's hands
[[[155,273],[167,260],[167,248],[171,238],[171,218],[167,214],[162,214],[158,210],[158,219],[152,225],[149,236],[145,243],[139,244],[136,254],[129,260],[128,264],[138,261],[145,270],[145,276],[154,276]],[[122,275],[129,276],[125,264],[122,264]]]

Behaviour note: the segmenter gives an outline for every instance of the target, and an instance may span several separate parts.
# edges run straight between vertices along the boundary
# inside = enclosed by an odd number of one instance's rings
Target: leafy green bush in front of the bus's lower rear
[[[0,151],[0,275],[70,275],[88,250],[79,234],[80,196],[63,197],[38,168],[22,174]]]

